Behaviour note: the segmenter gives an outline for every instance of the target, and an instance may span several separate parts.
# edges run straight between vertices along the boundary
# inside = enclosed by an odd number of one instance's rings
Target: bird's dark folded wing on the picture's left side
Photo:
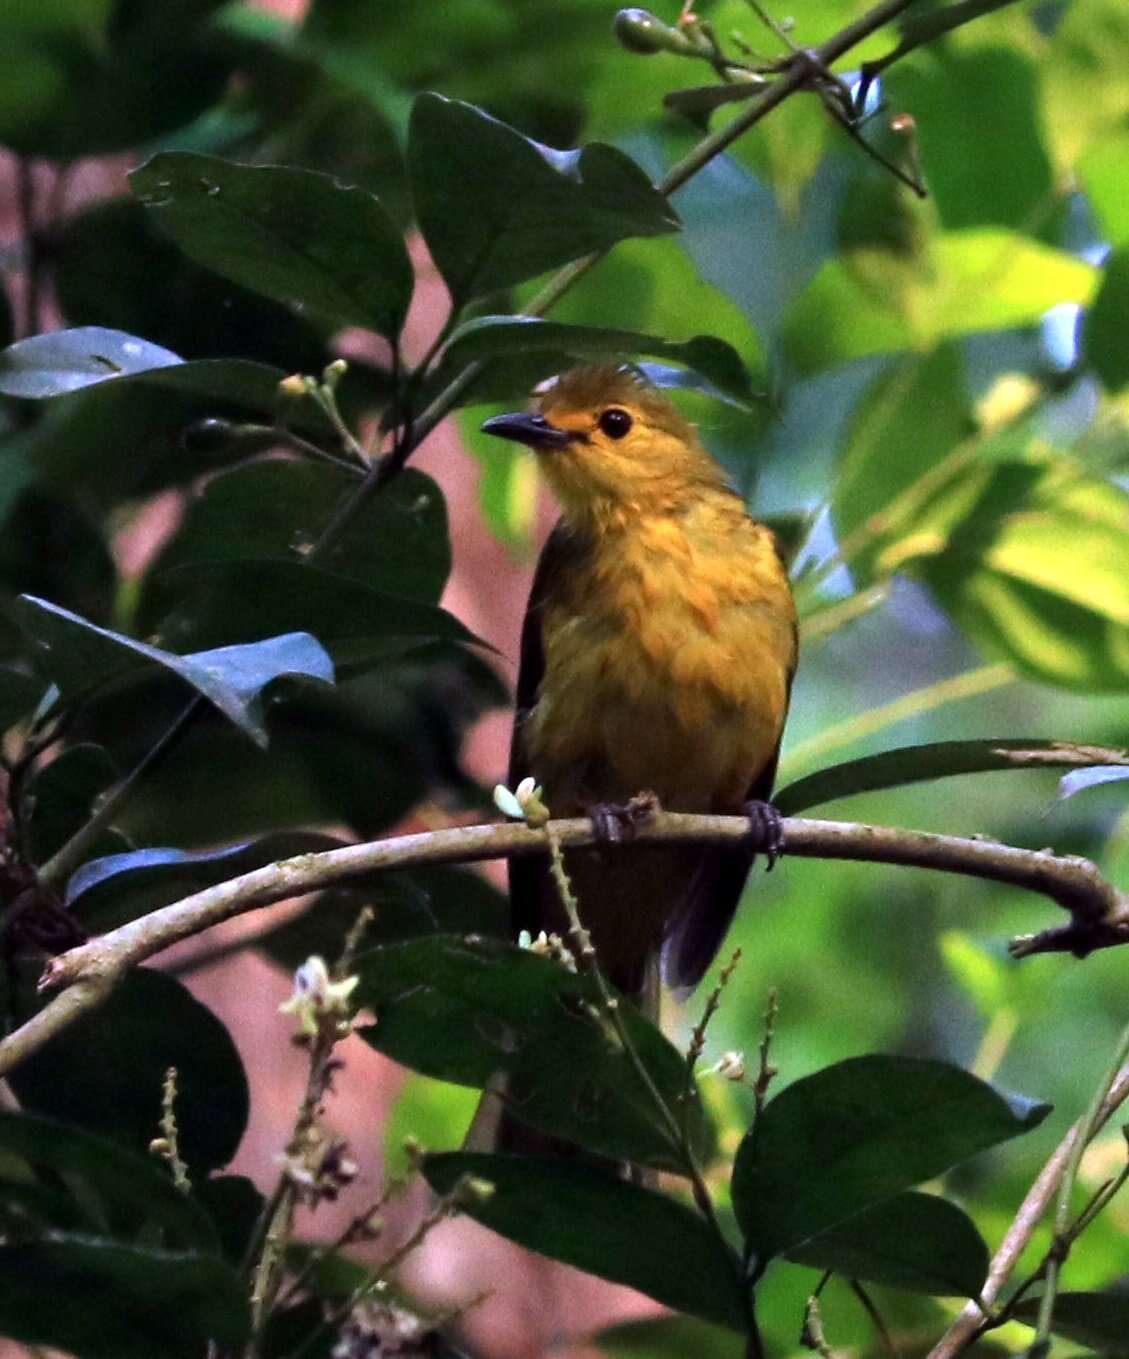
[[[528,752],[524,742],[524,726],[537,703],[537,692],[545,675],[545,641],[542,625],[545,605],[550,591],[560,591],[561,582],[575,569],[579,542],[562,522],[549,534],[537,563],[533,578],[526,617],[522,624],[522,647],[518,660],[516,712],[514,713],[514,737],[509,743],[508,786],[515,788],[522,779],[535,771],[530,769]],[[552,807],[549,809],[552,811]],[[548,860],[537,858],[509,860],[509,923],[515,936],[528,930],[535,938],[541,930],[552,928],[543,919],[543,902],[553,900],[549,883]]]

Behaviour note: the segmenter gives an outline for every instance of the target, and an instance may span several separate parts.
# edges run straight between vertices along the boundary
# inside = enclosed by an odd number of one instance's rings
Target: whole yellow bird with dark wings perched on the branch
[[[576,368],[535,413],[482,428],[534,448],[561,507],[522,633],[511,787],[533,775],[553,815],[596,813],[607,830],[614,806],[643,791],[668,811],[751,809],[755,819],[761,805],[772,848],[762,802],[796,666],[772,531],[632,367]],[[605,974],[652,1017],[659,959],[679,988],[709,966],[754,840],[569,853]],[[509,883],[515,931],[565,934],[543,859],[511,863]]]

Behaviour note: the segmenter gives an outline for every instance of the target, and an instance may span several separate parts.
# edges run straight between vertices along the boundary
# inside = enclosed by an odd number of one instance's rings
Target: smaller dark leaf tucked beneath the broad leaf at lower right
[[[787,1258],[887,1288],[978,1298],[988,1246],[967,1214],[928,1193],[899,1193],[789,1250]]]

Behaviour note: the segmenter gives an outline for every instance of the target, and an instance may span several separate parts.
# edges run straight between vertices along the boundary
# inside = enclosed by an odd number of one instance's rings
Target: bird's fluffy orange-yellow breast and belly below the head
[[[526,727],[549,806],[643,790],[730,810],[774,757],[795,613],[768,530],[735,497],[610,530],[545,603]]]

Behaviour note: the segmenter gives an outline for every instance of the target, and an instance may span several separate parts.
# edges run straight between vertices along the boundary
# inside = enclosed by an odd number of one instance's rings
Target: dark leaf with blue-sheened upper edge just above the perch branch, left
[[[84,863],[67,883],[67,908],[90,934],[105,934],[216,882],[341,844],[317,830],[285,830],[223,849],[130,849]]]

